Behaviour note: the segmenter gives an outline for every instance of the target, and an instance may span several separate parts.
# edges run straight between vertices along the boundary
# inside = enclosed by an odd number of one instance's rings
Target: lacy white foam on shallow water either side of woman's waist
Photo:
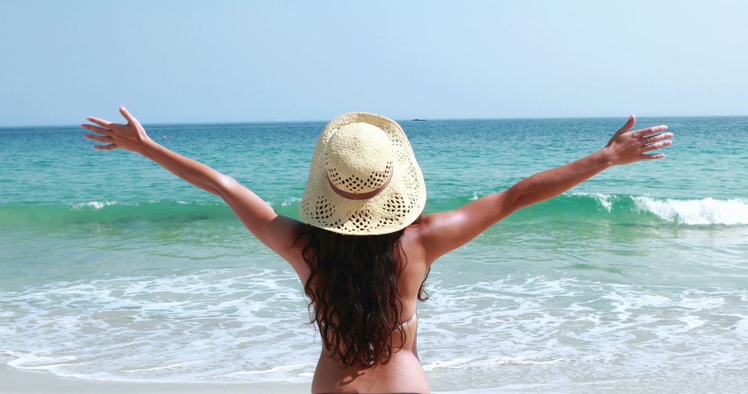
[[[563,384],[568,373],[640,380],[652,366],[669,378],[715,363],[747,367],[746,316],[731,312],[745,300],[735,290],[533,274],[461,284],[457,270],[432,274],[418,343],[434,387],[495,388],[530,368]],[[60,281],[0,290],[0,302],[14,313],[0,319],[10,329],[0,337],[7,365],[63,377],[308,383],[320,349],[290,271]]]

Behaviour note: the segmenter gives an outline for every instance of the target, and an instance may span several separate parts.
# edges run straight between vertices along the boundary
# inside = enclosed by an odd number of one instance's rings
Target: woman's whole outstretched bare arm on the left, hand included
[[[101,134],[84,134],[83,137],[100,143],[108,143],[93,146],[93,148],[99,150],[123,148],[137,152],[185,181],[223,198],[258,240],[288,260],[297,272],[303,269],[303,264],[298,258],[298,251],[290,248],[301,228],[301,222],[278,215],[269,204],[230,176],[160,146],[148,137],[138,119],[130,115],[125,107],[120,107],[120,113],[127,120],[127,124],[121,125],[105,119],[89,117],[88,121],[98,126],[81,125],[88,131]]]

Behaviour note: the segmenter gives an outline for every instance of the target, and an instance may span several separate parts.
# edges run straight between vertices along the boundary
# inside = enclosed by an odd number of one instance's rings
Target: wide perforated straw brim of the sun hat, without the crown
[[[393,148],[393,173],[390,183],[377,196],[364,200],[338,195],[330,186],[325,169],[325,146],[343,127],[366,122],[384,131]],[[299,215],[314,227],[339,234],[378,235],[402,230],[423,212],[426,184],[400,125],[374,113],[346,113],[333,119],[319,136],[309,170]]]

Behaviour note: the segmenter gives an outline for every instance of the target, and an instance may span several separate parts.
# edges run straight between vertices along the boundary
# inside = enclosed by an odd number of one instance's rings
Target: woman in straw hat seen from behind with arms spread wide
[[[298,222],[278,215],[227,175],[159,146],[124,107],[126,124],[90,117],[84,137],[159,163],[226,201],[262,243],[298,274],[324,348],[313,393],[428,393],[416,349],[417,301],[442,254],[515,210],[558,196],[610,166],[652,160],[669,146],[666,126],[631,131],[634,116],[599,151],[450,212],[421,216],[426,187],[400,126],[348,113],[330,122],[314,151]]]

